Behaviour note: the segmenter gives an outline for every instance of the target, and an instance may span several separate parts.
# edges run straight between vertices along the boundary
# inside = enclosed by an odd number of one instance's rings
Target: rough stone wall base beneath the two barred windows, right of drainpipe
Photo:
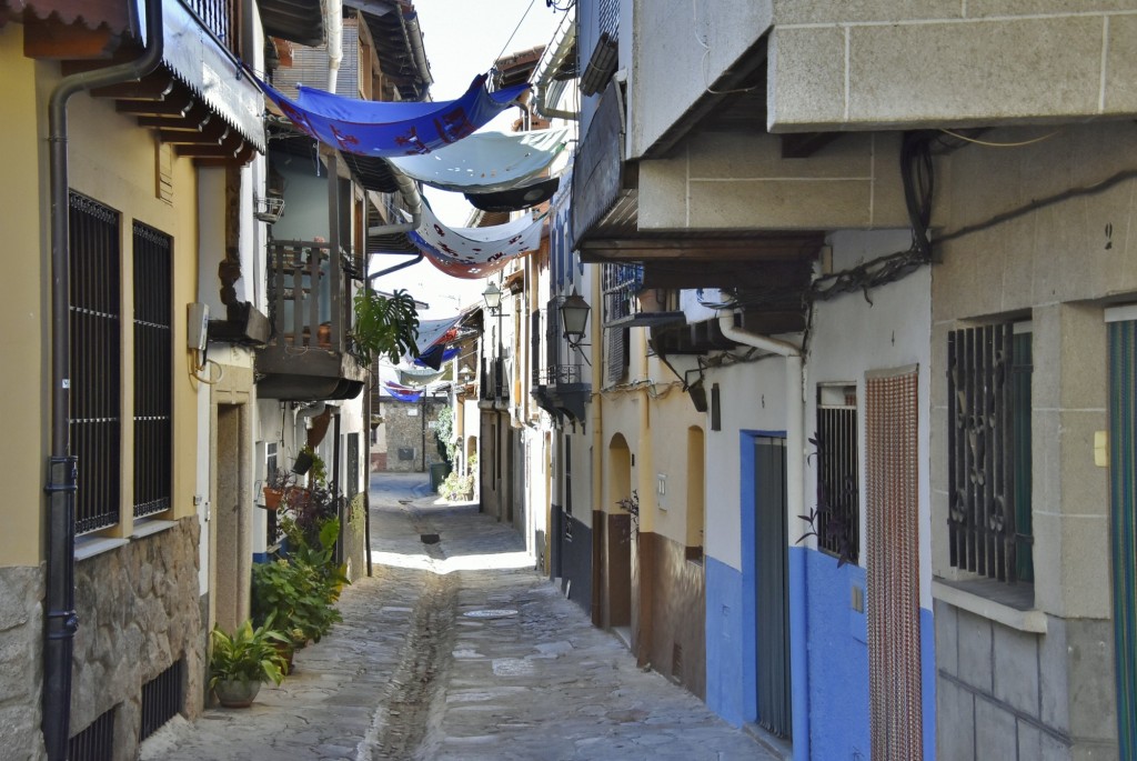
[[[186,518],[75,564],[72,735],[114,709],[116,760],[138,758],[142,685],[179,659],[183,713],[196,718],[205,705],[199,533]]]

